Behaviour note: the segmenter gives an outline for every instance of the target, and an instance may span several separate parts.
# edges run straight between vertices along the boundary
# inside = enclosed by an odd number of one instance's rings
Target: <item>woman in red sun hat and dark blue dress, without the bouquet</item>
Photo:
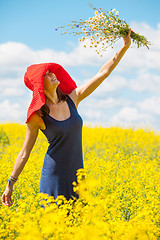
[[[72,196],[78,198],[72,188],[76,171],[83,168],[82,119],[77,107],[117,66],[131,44],[130,34],[131,29],[123,37],[124,46],[88,83],[80,87],[76,87],[69,74],[58,64],[37,64],[28,68],[25,84],[33,91],[33,99],[27,113],[26,138],[2,195],[4,205],[10,207],[13,204],[13,185],[29,158],[39,129],[50,143],[44,159],[40,192],[54,198],[58,195],[64,195],[66,199]]]

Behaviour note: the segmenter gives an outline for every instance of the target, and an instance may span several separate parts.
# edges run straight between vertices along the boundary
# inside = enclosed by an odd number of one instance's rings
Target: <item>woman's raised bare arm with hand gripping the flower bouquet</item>
[[[115,54],[113,58],[111,58],[101,67],[99,72],[89,82],[73,90],[70,95],[75,101],[76,105],[90,95],[104,81],[104,79],[111,74],[131,44],[130,34],[131,29],[129,29],[128,35],[123,37],[124,46]]]

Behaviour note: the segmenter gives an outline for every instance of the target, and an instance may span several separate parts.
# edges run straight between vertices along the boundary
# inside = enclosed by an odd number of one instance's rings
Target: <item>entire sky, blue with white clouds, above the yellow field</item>
[[[0,2],[0,121],[24,122],[31,93],[23,84],[26,67],[39,62],[62,64],[78,85],[88,81],[123,45],[119,41],[102,58],[84,49],[78,37],[55,28],[94,12],[89,1],[1,0]],[[120,64],[79,112],[85,123],[105,126],[151,126],[160,130],[160,2],[90,1],[97,8],[116,8],[135,32],[151,42],[128,50]],[[1,111],[1,112],[2,112]]]

